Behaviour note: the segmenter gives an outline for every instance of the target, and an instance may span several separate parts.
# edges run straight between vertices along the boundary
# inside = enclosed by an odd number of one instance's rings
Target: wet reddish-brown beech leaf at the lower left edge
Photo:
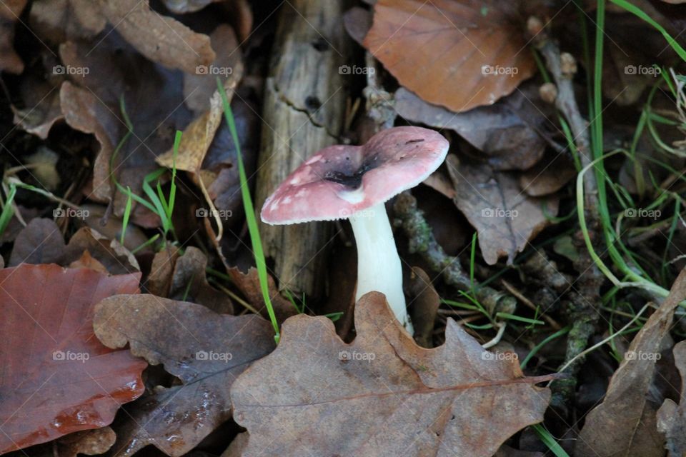
[[[0,270],[0,453],[111,423],[144,391],[145,361],[93,334],[93,307],[139,274],[22,264]]]

